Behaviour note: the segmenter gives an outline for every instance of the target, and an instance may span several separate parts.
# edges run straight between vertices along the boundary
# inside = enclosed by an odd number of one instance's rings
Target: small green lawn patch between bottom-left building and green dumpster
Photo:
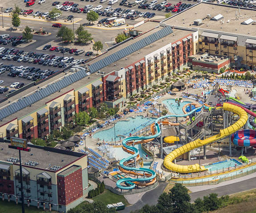
[[[112,203],[118,203],[122,202],[124,205],[129,205],[126,198],[123,195],[118,195],[113,192],[110,192],[110,190],[105,189],[105,191],[96,197],[91,198],[93,201],[102,201],[103,203],[112,204]]]

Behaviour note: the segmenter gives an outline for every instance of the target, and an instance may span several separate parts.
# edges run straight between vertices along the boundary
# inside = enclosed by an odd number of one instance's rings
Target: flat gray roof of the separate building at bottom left
[[[7,160],[10,158],[19,158],[18,150],[10,149],[8,145],[10,144],[0,142],[0,161],[8,162]],[[49,147],[32,145],[30,148],[30,152],[20,152],[22,165],[25,165],[25,163],[29,161],[37,162],[38,165],[32,167],[41,169],[49,169],[53,166],[60,166],[62,168],[82,156],[80,153],[57,150]],[[47,159],[47,161],[45,161],[45,159]],[[17,164],[19,164],[19,162],[17,162]],[[29,164],[27,164],[27,166],[29,166]]]

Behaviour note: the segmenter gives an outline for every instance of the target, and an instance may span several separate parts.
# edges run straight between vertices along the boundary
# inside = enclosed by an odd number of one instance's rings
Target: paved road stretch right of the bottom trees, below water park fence
[[[202,186],[203,187],[203,186]],[[228,185],[219,186],[213,189],[207,189],[199,192],[190,193],[191,201],[195,201],[197,197],[203,198],[203,196],[210,193],[217,193],[218,196],[238,193],[250,189],[256,188],[256,177],[240,181],[238,183],[232,183]]]

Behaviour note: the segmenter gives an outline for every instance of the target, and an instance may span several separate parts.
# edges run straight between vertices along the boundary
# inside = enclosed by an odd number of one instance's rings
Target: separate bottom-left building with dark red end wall
[[[87,155],[29,145],[21,152],[24,203],[41,209],[67,212],[88,193]],[[18,150],[0,142],[0,196],[21,202]],[[47,161],[45,161],[47,159]]]

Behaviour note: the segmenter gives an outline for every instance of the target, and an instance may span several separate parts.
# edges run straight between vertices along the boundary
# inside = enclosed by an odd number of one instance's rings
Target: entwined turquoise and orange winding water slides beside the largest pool
[[[202,108],[208,108],[207,106],[203,105],[203,106],[199,106],[197,108],[195,108],[194,110],[192,110],[191,112],[189,112],[188,114],[171,114],[171,115],[165,115],[162,116],[158,119],[156,119],[156,121],[154,122],[154,126],[156,128],[156,132],[154,131],[154,128],[151,128],[152,134],[150,136],[132,136],[129,138],[125,138],[122,141],[122,146],[124,150],[127,150],[131,156],[129,156],[128,158],[123,158],[120,162],[119,162],[119,166],[120,166],[120,170],[126,172],[126,173],[130,173],[130,174],[134,174],[136,176],[138,176],[137,178],[131,178],[131,177],[126,177],[126,178],[122,178],[120,180],[118,180],[116,182],[116,185],[118,186],[118,188],[120,189],[133,189],[135,187],[135,185],[150,185],[153,184],[156,179],[156,173],[153,170],[150,169],[146,169],[146,168],[135,168],[135,167],[130,167],[129,164],[131,162],[134,161],[134,159],[138,159],[139,158],[139,152],[138,149],[135,148],[134,146],[131,146],[133,144],[137,144],[137,143],[143,143],[143,142],[149,142],[151,140],[153,140],[154,138],[158,137],[161,134],[161,130],[160,130],[160,126],[159,126],[159,122],[161,119],[164,118],[171,118],[171,117],[178,117],[178,118],[183,118],[183,117],[187,117],[190,114],[193,114],[196,110],[202,109]],[[162,122],[164,125],[171,123],[168,121],[163,121]],[[152,126],[152,125],[151,125]],[[137,141],[137,142],[136,142]]]

